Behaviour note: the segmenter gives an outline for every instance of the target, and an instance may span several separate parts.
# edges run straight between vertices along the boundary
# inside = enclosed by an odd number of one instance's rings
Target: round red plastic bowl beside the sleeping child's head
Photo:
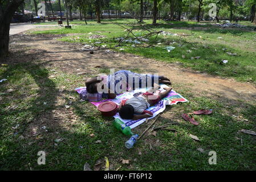
[[[106,101],[99,104],[97,109],[101,111],[102,115],[111,117],[117,113],[118,105],[115,102]]]

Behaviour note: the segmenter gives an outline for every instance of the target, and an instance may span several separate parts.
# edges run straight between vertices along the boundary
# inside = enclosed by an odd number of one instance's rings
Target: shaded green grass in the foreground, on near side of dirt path
[[[97,73],[102,71],[101,68]],[[136,71],[140,72],[139,69]],[[57,72],[55,77],[50,77],[54,72]],[[112,126],[112,118],[102,117],[88,102],[79,102],[74,88],[83,86],[82,76],[30,63],[0,67],[0,77],[8,78],[0,83],[1,170],[82,170],[84,163],[93,168],[98,160],[104,167],[105,156],[111,170],[120,166],[120,170],[256,169],[255,136],[238,133],[241,129],[255,130],[255,104],[230,102],[221,96],[198,97],[189,85],[174,84],[174,88],[189,100],[165,110],[172,114],[173,121],[180,122],[180,125],[171,127],[177,133],[159,130],[156,137],[145,135],[128,150],[124,147],[128,137]],[[62,86],[65,88],[60,93]],[[14,92],[8,93],[8,89],[14,89]],[[64,100],[63,104],[56,102],[60,98]],[[69,101],[72,101],[70,106],[75,121],[58,122],[53,117],[53,110],[66,112],[64,104]],[[180,117],[181,113],[201,108],[213,109],[213,114],[195,116],[199,126],[192,126]],[[170,119],[160,117],[155,126],[166,122]],[[42,129],[43,126],[48,131]],[[140,133],[145,127],[147,124],[142,124],[134,130]],[[37,129],[39,135],[33,137],[32,128]],[[92,133],[95,137],[90,137]],[[201,141],[194,141],[189,134],[196,135]],[[21,135],[25,138],[21,139]],[[58,146],[54,144],[57,138],[63,138]],[[101,143],[95,143],[96,140],[101,140]],[[205,152],[201,153],[197,148],[203,148]],[[46,152],[46,165],[39,166],[37,153],[41,150]],[[217,152],[217,165],[209,165],[209,151]],[[121,164],[120,159],[129,159],[130,162]]]

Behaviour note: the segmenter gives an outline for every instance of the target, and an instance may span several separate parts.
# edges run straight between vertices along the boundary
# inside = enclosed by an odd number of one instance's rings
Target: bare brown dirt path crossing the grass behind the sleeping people
[[[11,37],[14,47],[25,49],[27,61],[42,60],[46,66],[59,67],[64,72],[86,72],[94,75],[95,67],[119,69],[139,68],[144,73],[152,72],[165,75],[175,84],[184,85],[199,95],[225,97],[230,100],[256,101],[256,88],[246,82],[237,82],[231,78],[210,76],[191,69],[181,68],[178,64],[167,64],[153,59],[129,53],[106,52],[105,50],[80,51],[82,44],[59,42],[60,35],[26,35]],[[12,45],[12,44],[11,44]],[[29,49],[26,49],[29,47]],[[12,50],[12,46],[10,48]],[[20,61],[18,57],[15,61]],[[79,71],[78,71],[79,69]],[[175,88],[174,88],[175,89]]]

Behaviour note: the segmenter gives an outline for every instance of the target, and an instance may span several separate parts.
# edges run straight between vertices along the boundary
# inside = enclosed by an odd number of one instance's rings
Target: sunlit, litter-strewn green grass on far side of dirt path
[[[140,44],[135,45],[137,47],[132,47],[132,43],[122,43],[120,47],[116,47],[118,42],[115,39],[127,35],[127,32],[124,32],[124,28],[118,24],[131,27],[133,21],[132,19],[103,20],[100,24],[88,21],[87,25],[79,24],[84,23],[82,21],[76,21],[73,23],[76,25],[71,30],[57,28],[54,30],[35,31],[34,34],[70,34],[70,36],[63,36],[60,40],[92,45],[100,41],[101,43],[96,44],[96,46],[107,45],[108,48],[116,49],[117,51],[120,48],[124,48],[121,52],[129,52],[168,63],[179,62],[184,67],[190,67],[196,71],[222,77],[233,77],[238,81],[256,84],[255,32],[212,27],[208,25],[209,23],[200,25],[196,22],[171,22],[170,24],[162,20],[158,26],[152,26],[149,24],[151,23],[150,20],[145,20],[145,25],[148,27],[157,31],[172,32],[180,36],[159,35],[157,38],[154,36],[148,44],[155,47],[143,48]],[[140,30],[134,32],[137,36],[144,34]],[[95,34],[104,35],[105,38],[89,39],[89,36]],[[182,36],[181,34],[189,36]],[[171,52],[167,52],[166,46],[174,46],[176,48]],[[192,52],[189,53],[187,52],[188,50]],[[237,53],[237,56],[228,55],[227,52]],[[200,59],[193,59],[193,57],[197,56],[200,56]],[[228,60],[228,63],[220,64],[222,60]]]

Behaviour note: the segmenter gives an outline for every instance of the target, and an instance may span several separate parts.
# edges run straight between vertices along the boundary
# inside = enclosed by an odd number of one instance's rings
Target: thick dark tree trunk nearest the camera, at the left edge
[[[0,57],[8,55],[11,18],[23,2],[24,0],[16,0],[10,2],[8,5],[6,5],[6,7],[1,7],[2,12],[0,14]]]

